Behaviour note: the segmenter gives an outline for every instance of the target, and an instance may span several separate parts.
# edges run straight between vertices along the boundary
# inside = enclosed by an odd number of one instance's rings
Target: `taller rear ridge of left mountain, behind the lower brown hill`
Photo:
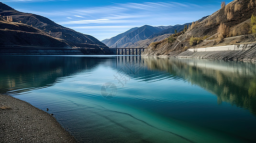
[[[105,44],[90,35],[82,34],[63,27],[40,15],[14,10],[2,2],[0,2],[0,17],[4,21],[7,21],[7,18],[11,17],[12,21],[9,23],[15,23],[16,25],[18,23],[23,23],[41,30],[40,32],[44,31],[44,34],[47,34],[49,37],[59,39],[59,41],[66,43],[69,47],[90,48],[95,49],[96,51],[102,51],[101,48],[103,48],[103,51],[104,49],[109,49]],[[16,43],[14,42],[14,44]]]

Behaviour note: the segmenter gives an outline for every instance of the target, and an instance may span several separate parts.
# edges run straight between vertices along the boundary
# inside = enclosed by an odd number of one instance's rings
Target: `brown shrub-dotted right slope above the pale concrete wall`
[[[185,33],[181,33],[179,36],[174,35],[173,37],[170,37],[169,40],[151,44],[145,50],[143,55],[178,56],[189,48],[246,44],[248,42],[254,42],[256,39],[252,34],[250,34],[250,18],[252,14],[256,14],[255,8],[255,0],[234,0],[222,9],[214,12],[205,20],[194,23],[194,26],[190,27],[190,29]],[[217,31],[221,23],[226,25],[226,35],[223,38],[219,37],[221,32]],[[191,40],[192,36],[197,39]],[[216,54],[219,53],[216,52]],[[218,55],[211,55],[211,58],[213,59],[217,57]],[[241,58],[242,57],[238,59],[242,60]],[[225,57],[220,59],[225,59]],[[232,60],[232,57],[229,57],[229,59]]]

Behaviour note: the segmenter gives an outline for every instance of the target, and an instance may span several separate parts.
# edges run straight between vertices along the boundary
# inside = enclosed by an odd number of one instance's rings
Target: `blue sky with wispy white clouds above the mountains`
[[[1,0],[12,8],[104,40],[145,24],[184,24],[211,15],[223,0]],[[226,3],[232,0],[226,1]]]

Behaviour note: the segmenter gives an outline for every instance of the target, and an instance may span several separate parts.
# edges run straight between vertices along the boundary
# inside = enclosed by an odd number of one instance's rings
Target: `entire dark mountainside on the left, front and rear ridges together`
[[[104,53],[102,49],[109,49],[90,35],[63,27],[40,15],[14,10],[2,2],[0,2],[0,37],[0,45],[90,48],[96,54]]]

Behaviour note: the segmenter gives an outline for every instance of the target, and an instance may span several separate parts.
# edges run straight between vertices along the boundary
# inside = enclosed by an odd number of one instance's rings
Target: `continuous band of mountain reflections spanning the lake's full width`
[[[140,56],[0,56],[0,93],[22,93],[93,71],[100,63],[141,82],[185,80],[256,114],[256,64],[239,61]]]

